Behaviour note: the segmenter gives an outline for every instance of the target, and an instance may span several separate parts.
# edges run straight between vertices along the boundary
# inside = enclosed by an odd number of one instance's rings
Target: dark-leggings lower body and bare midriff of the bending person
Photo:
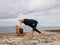
[[[20,19],[19,20],[20,24],[24,23],[25,25],[30,26],[33,30],[32,30],[32,36],[34,34],[34,31],[38,32],[39,34],[41,33],[39,30],[37,30],[37,24],[38,21],[34,20],[34,19]]]

